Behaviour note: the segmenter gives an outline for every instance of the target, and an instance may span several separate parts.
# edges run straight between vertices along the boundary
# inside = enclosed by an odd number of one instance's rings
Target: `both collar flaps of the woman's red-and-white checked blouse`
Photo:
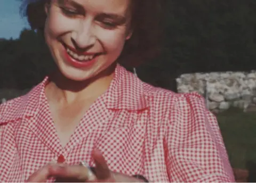
[[[18,119],[34,117],[40,110],[42,99],[45,96],[45,86],[49,77],[24,96],[12,99],[0,106],[3,111],[0,115],[0,124]],[[143,94],[143,82],[127,71],[121,65],[117,65],[114,79],[103,95],[103,102],[107,109],[112,110],[143,110],[148,107],[147,96]]]

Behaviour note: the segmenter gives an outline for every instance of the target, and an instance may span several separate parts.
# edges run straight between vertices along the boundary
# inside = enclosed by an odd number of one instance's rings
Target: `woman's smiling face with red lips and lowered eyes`
[[[110,68],[130,38],[130,0],[52,0],[45,39],[62,74],[83,81]]]

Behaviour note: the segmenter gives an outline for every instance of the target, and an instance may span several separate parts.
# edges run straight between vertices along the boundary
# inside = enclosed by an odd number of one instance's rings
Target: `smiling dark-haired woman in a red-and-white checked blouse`
[[[1,105],[1,181],[234,182],[204,99],[145,84],[117,63],[150,56],[157,2],[29,3],[58,70]]]

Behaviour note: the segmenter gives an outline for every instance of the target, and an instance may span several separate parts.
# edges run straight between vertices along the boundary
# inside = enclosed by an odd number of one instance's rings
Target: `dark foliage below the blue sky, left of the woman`
[[[54,68],[45,41],[32,30],[22,30],[19,39],[2,39],[0,56],[0,88],[31,88]]]

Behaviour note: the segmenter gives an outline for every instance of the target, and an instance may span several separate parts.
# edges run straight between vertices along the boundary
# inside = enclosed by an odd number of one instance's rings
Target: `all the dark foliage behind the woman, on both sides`
[[[137,68],[143,81],[175,90],[182,73],[256,69],[255,0],[159,1],[164,44],[161,55]],[[54,68],[42,36],[31,30],[0,40],[0,56],[0,88],[35,85]]]

